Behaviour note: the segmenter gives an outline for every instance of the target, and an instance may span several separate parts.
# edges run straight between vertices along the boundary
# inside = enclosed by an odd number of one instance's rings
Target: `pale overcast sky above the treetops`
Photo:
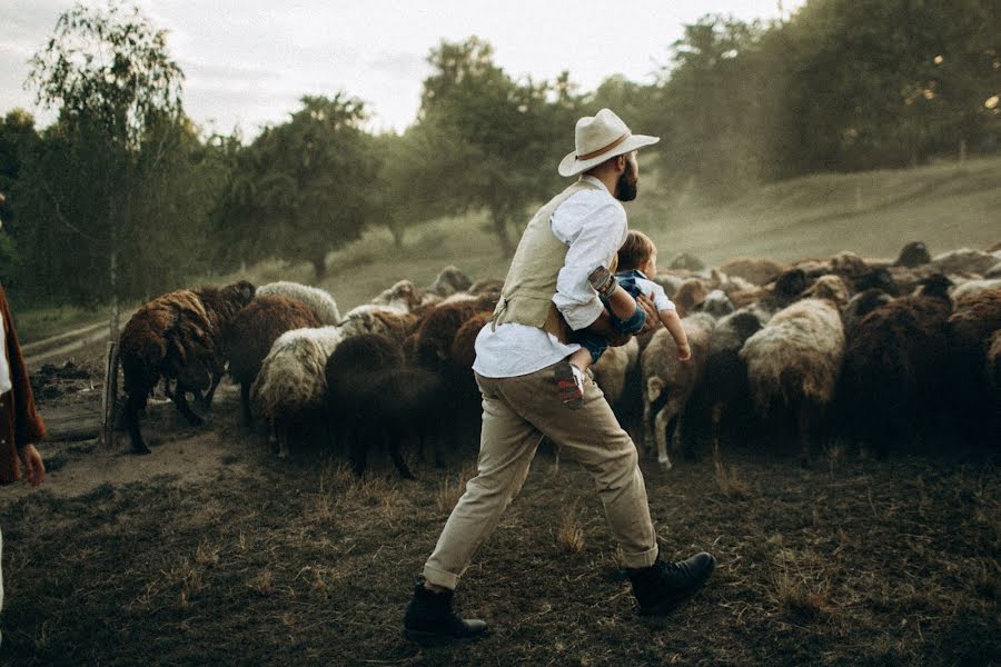
[[[91,0],[87,0],[88,3]],[[780,7],[781,1],[781,7]],[[470,36],[494,47],[512,77],[571,79],[591,91],[621,73],[648,83],[682,26],[705,13],[787,16],[804,0],[138,0],[186,74],[184,102],[202,128],[254,137],[288,119],[304,94],[344,90],[373,112],[374,130],[414,122],[428,52]],[[0,0],[0,113],[53,115],[24,90],[27,61],[72,0]],[[95,2],[105,7],[103,0]],[[625,119],[628,122],[628,119]]]

